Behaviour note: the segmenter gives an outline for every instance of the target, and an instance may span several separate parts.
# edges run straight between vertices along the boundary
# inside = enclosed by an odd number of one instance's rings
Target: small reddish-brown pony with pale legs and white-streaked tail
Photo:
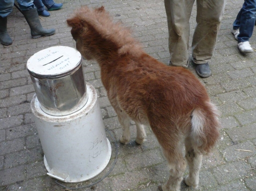
[[[184,182],[198,187],[202,155],[210,152],[220,128],[205,87],[189,70],[150,57],[103,6],[81,7],[67,24],[82,57],[100,65],[102,83],[123,128],[120,142],[130,141],[130,120],[136,124],[138,144],[146,138],[143,125],[152,128],[170,170],[167,183],[159,186],[163,191],[180,190],[185,144],[190,172]]]

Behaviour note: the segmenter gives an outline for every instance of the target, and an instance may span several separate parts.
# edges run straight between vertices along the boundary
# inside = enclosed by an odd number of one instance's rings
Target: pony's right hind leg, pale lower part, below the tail
[[[199,184],[199,171],[202,163],[202,154],[197,152],[197,149],[193,148],[190,138],[186,138],[185,147],[185,158],[189,165],[189,175],[184,179],[184,183],[187,186],[197,188]]]

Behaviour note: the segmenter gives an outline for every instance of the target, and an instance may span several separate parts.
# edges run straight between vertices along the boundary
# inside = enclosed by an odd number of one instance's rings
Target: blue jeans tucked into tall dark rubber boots
[[[33,0],[16,0],[19,4],[21,11],[27,11],[29,9],[35,9]],[[0,3],[0,17],[7,17],[12,12],[14,6],[14,0],[1,0]]]

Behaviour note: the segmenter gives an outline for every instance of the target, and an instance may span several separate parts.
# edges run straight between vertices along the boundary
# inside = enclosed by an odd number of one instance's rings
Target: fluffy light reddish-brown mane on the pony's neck
[[[96,9],[82,6],[74,12],[74,17],[85,25],[93,27],[106,41],[115,43],[119,54],[127,54],[131,51],[138,53],[138,49],[141,49],[140,43],[131,36],[131,30],[123,27],[121,22],[114,22],[103,6]]]

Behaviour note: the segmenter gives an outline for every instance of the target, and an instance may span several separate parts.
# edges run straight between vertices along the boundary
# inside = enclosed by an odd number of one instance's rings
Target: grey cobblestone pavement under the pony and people
[[[66,25],[73,10],[81,5],[105,6],[115,20],[131,27],[133,36],[145,51],[168,63],[168,29],[163,0],[56,0],[63,8],[41,18],[45,28],[56,34],[32,39],[22,14],[14,7],[7,29],[13,39],[10,46],[0,45],[0,190],[69,190],[50,178],[43,164],[43,150],[32,119],[30,102],[34,87],[26,69],[27,60],[50,46],[74,46]],[[221,111],[221,138],[213,153],[204,158],[199,190],[256,190],[256,53],[242,55],[231,34],[232,22],[243,0],[228,0],[219,38],[210,67],[213,75],[200,78],[210,98]],[[195,5],[191,17],[191,38],[195,27]],[[251,40],[256,47],[255,34]],[[191,44],[191,43],[190,43]],[[190,48],[191,50],[191,48]],[[191,52],[191,51],[190,51]],[[86,81],[97,90],[103,122],[118,140],[121,126],[110,106],[95,62],[83,61]],[[189,70],[194,73],[190,64]],[[147,141],[139,146],[132,140],[124,146],[117,143],[118,158],[114,169],[98,184],[79,190],[157,190],[169,173],[152,131],[147,128]],[[116,147],[111,137],[112,156],[107,168],[92,180],[64,184],[83,187],[101,179],[115,162]],[[240,149],[240,150],[239,150]],[[248,150],[248,151],[242,151]],[[187,171],[186,171],[187,173]],[[181,190],[193,190],[182,184]]]

